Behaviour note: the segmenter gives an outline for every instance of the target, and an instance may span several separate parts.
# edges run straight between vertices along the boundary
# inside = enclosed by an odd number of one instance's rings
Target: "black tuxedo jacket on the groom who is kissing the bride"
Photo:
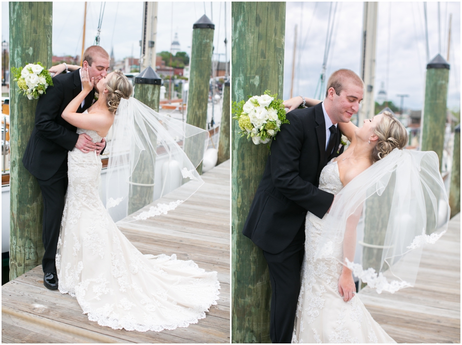
[[[79,139],[75,133],[77,127],[66,122],[61,114],[81,91],[80,70],[76,70],[53,77],[53,86],[38,98],[35,126],[23,157],[24,167],[37,179],[51,178]],[[79,106],[77,112],[88,109],[93,97],[94,90],[91,90],[85,98],[84,107]]]

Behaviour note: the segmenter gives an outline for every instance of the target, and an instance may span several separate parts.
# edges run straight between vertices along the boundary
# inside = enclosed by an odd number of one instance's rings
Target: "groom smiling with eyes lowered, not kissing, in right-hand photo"
[[[334,195],[317,188],[319,176],[322,168],[343,152],[337,123],[349,122],[358,112],[363,88],[353,71],[334,72],[324,101],[287,113],[290,124],[281,127],[271,144],[271,155],[242,233],[263,250],[268,263],[273,343],[291,342],[306,212],[322,218],[334,201]]]

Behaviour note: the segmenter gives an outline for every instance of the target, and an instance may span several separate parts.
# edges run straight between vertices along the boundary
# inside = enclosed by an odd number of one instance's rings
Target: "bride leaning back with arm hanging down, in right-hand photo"
[[[315,105],[318,102],[311,99],[307,103]],[[292,110],[301,102],[300,98],[292,98],[284,104]],[[447,199],[439,175],[438,158],[431,152],[412,153],[403,150],[408,141],[406,128],[389,112],[364,120],[360,128],[351,122],[338,125],[351,144],[321,172],[319,188],[336,195],[329,213],[322,219],[310,212],[306,215],[305,255],[292,342],[394,343],[355,295],[352,270],[363,282],[376,288],[378,293],[381,290],[393,293],[399,288],[412,286],[419,262],[419,251],[410,254],[411,250],[425,242],[434,243],[444,231],[432,234],[433,239],[430,239],[431,236],[427,237],[425,232],[422,234],[422,224],[417,220],[414,223],[419,224],[415,226],[410,222],[399,225],[392,218],[402,216],[405,206],[422,202],[425,204],[428,198],[424,193],[416,193],[421,189],[416,184],[419,178],[428,190],[436,191],[435,201],[438,201],[438,193],[440,200]],[[432,176],[419,177],[420,170],[421,175]],[[394,186],[389,182],[393,180],[390,178],[393,174]],[[409,180],[402,183],[406,179]],[[383,181],[385,182],[382,183]],[[389,221],[392,226],[387,229],[386,240],[382,246],[382,266],[377,275],[371,269],[367,270],[367,267],[353,263],[357,243],[356,226],[365,200],[376,193],[382,193],[387,185],[389,189],[395,187]],[[407,196],[406,189],[412,189],[414,199],[395,202],[395,199]],[[431,195],[430,192],[429,194]],[[441,224],[432,220],[428,204],[427,209],[424,205],[409,213],[417,219],[419,215],[428,218],[423,225],[424,231],[426,227],[435,230]],[[415,233],[412,233],[414,229]],[[416,240],[420,239],[421,243],[418,243]],[[389,247],[393,248],[393,252],[386,249]],[[409,257],[414,260],[411,262]],[[389,283],[387,278],[397,279]]]

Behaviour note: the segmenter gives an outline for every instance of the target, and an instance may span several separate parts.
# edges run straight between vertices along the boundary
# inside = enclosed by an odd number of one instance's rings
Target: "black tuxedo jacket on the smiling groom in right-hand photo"
[[[321,170],[337,154],[325,157],[325,120],[321,103],[287,113],[271,144],[263,178],[255,193],[242,233],[272,254],[283,251],[304,224],[306,212],[322,218],[334,196],[317,188]]]

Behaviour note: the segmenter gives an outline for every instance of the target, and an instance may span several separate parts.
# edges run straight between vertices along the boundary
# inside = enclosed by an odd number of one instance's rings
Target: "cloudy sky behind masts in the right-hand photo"
[[[294,96],[314,97],[320,76],[329,2],[288,2],[285,18],[284,99],[291,91],[294,30],[298,25]],[[333,9],[335,7],[335,3]],[[316,9],[316,12],[315,12]],[[390,16],[391,13],[391,16]],[[449,63],[448,107],[460,109],[460,2],[440,2],[441,55],[447,58],[449,15],[452,31]],[[314,15],[313,15],[314,14]],[[438,7],[427,3],[430,59],[439,52]],[[338,3],[326,75],[339,68],[359,74],[363,20],[362,2]],[[301,32],[301,34],[300,34]],[[390,44],[389,44],[390,42]],[[408,94],[404,107],[422,109],[427,64],[424,3],[379,2],[377,15],[375,94],[381,83],[389,99],[400,104],[397,94]],[[300,55],[299,55],[300,54]],[[298,58],[300,56],[300,59]],[[387,73],[387,66],[389,72]],[[325,89],[324,89],[325,93]]]

